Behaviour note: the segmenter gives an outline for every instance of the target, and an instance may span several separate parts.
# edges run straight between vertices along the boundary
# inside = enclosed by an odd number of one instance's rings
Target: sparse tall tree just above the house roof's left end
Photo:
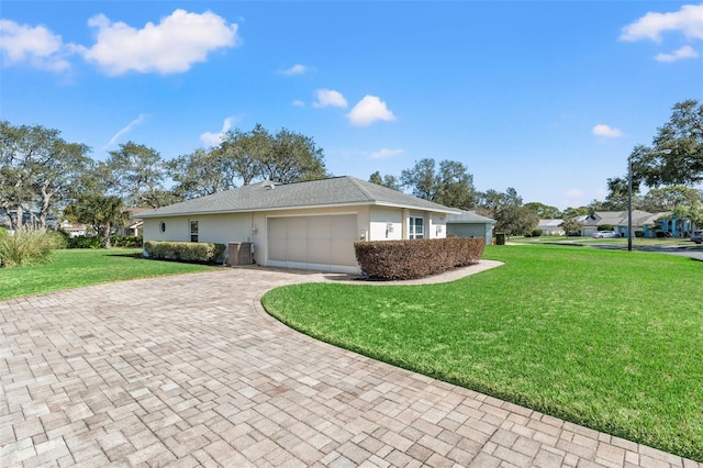
[[[120,144],[104,165],[110,193],[124,198],[127,207],[159,207],[155,193],[164,189],[166,168],[156,149],[134,142]]]

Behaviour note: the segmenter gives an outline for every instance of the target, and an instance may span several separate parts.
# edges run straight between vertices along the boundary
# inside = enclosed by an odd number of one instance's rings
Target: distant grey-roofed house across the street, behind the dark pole
[[[627,237],[627,211],[596,211],[581,222],[581,235],[590,236],[599,226],[610,225],[621,237]],[[689,220],[678,220],[671,212],[633,210],[633,235],[640,231],[644,237],[656,237],[661,231],[671,237],[684,237],[693,227]]]

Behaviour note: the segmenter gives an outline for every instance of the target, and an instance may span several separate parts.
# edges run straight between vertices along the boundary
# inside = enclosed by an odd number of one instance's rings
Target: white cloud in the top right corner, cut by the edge
[[[648,38],[661,41],[661,33],[680,31],[691,40],[703,40],[703,4],[684,4],[673,13],[649,12],[639,20],[623,27],[621,41]]]

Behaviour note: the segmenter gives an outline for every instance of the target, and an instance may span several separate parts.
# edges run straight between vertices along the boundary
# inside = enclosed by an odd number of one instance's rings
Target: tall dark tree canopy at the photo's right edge
[[[658,129],[652,146],[631,154],[633,181],[647,187],[692,186],[703,181],[703,104],[687,100],[673,105],[669,122]]]

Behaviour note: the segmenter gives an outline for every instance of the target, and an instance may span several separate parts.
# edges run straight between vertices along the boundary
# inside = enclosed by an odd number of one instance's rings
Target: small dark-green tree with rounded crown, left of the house
[[[64,215],[70,221],[90,225],[102,239],[102,247],[110,248],[110,235],[129,219],[120,197],[88,194],[66,207]]]

